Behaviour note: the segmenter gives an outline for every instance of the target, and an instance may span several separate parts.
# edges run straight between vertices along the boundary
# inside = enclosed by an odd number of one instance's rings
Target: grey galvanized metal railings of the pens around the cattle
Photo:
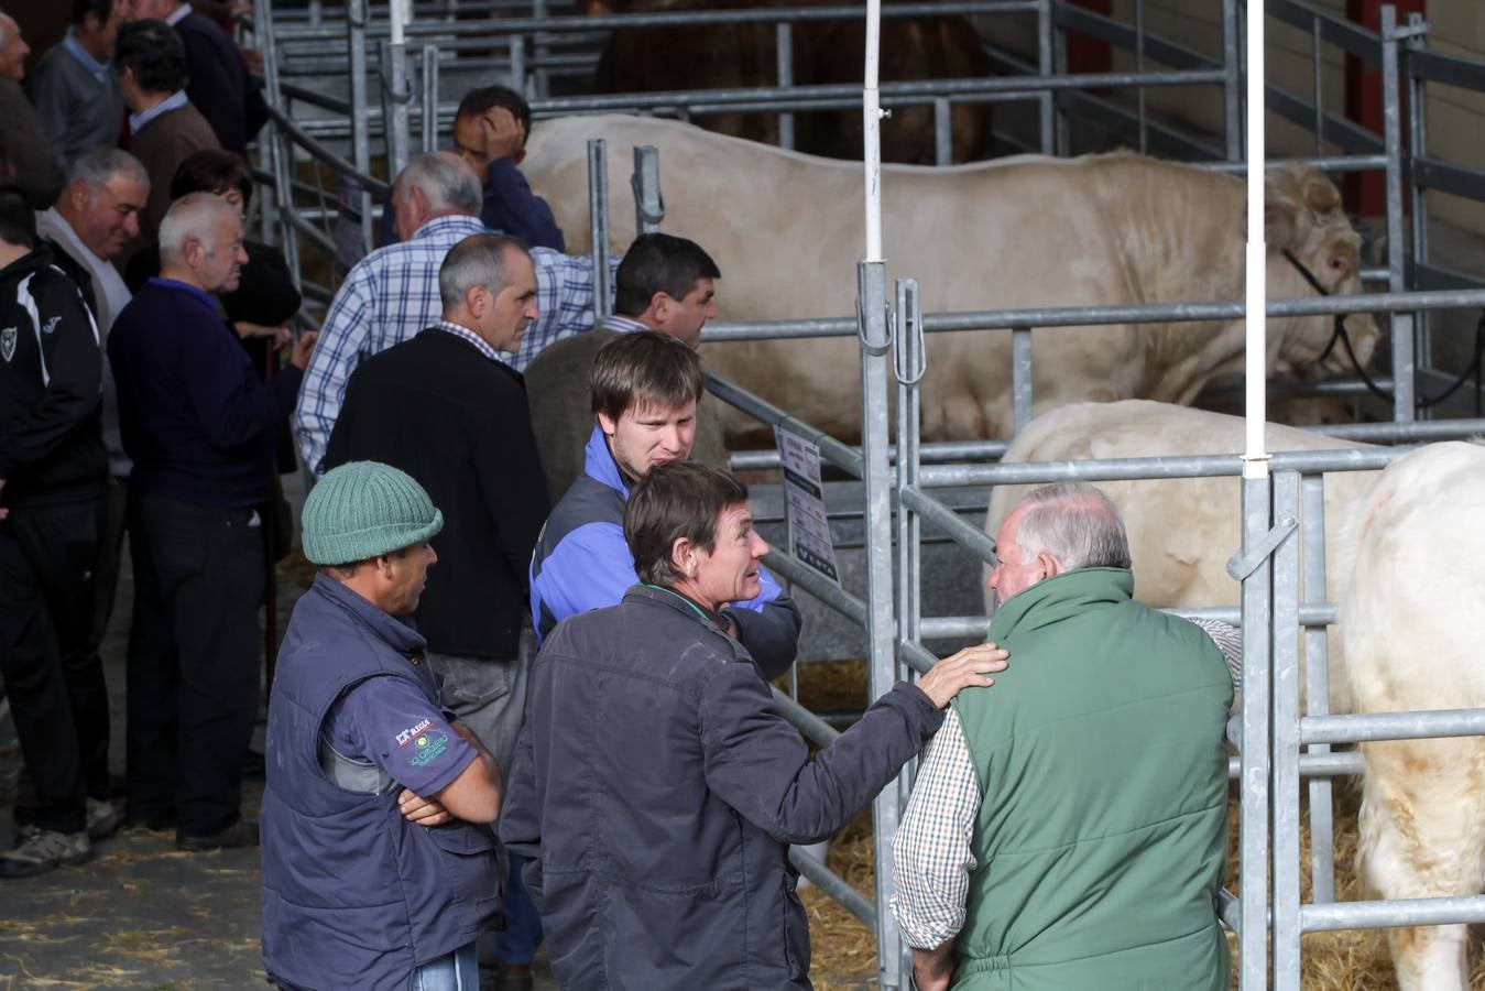
[[[946,108],[953,101],[992,100],[1026,101],[1037,110],[1038,138],[1034,144],[1047,153],[1066,152],[1069,131],[1075,114],[1081,111],[1106,113],[1115,107],[1130,113],[1135,129],[1143,146],[1146,135],[1151,144],[1169,147],[1182,141],[1178,129],[1155,122],[1146,111],[1142,94],[1149,86],[1218,86],[1222,91],[1225,131],[1218,144],[1222,160],[1213,168],[1241,169],[1243,141],[1240,122],[1243,119],[1243,92],[1240,88],[1240,40],[1238,7],[1234,0],[1222,4],[1224,45],[1222,59],[1198,58],[1192,52],[1179,51],[1142,30],[1139,18],[1133,30],[1109,18],[1097,18],[1075,7],[1050,0],[1034,3],[983,3],[983,4],[928,4],[922,10],[956,12],[979,10],[985,13],[1034,12],[1038,24],[1038,58],[1028,65],[1034,74],[1002,77],[993,80],[956,80],[952,83],[907,83],[882,86],[882,101],[912,103],[927,101],[939,110],[940,147],[946,146],[943,129],[947,126]],[[460,4],[468,10],[468,4]],[[508,71],[524,85],[527,74],[533,80],[533,108],[538,116],[563,113],[630,108],[642,113],[686,113],[704,116],[722,108],[772,108],[781,114],[821,107],[854,105],[858,91],[851,88],[797,88],[784,80],[787,64],[787,25],[820,16],[841,16],[839,10],[768,10],[737,15],[643,15],[637,18],[552,18],[538,7],[532,16],[505,18],[489,24],[471,25],[444,19],[446,10],[425,10],[432,19],[414,19],[401,37],[388,31],[389,42],[382,46],[376,59],[380,65],[382,107],[374,105],[367,86],[371,65],[371,42],[383,34],[368,9],[356,1],[347,7],[345,22],[333,21],[319,12],[315,22],[312,7],[307,24],[279,27],[272,6],[260,3],[257,10],[258,37],[270,58],[266,59],[270,79],[269,97],[273,107],[273,131],[266,137],[266,152],[278,192],[276,207],[264,204],[266,217],[279,226],[285,248],[296,250],[303,241],[315,250],[336,257],[340,264],[353,261],[356,248],[370,245],[373,196],[385,195],[385,180],[371,174],[373,144],[380,132],[385,160],[389,166],[405,160],[411,149],[408,131],[416,120],[422,129],[422,147],[437,144],[447,129],[453,104],[441,100],[440,71],[448,68],[453,59],[448,52],[486,51],[503,45],[505,58],[489,59],[496,71]],[[922,12],[913,9],[913,12]],[[1138,4],[1136,4],[1138,10]],[[1356,128],[1325,110],[1319,68],[1313,103],[1295,94],[1270,86],[1271,105],[1290,119],[1311,123],[1316,131],[1316,156],[1307,159],[1331,171],[1381,171],[1386,175],[1386,266],[1363,272],[1374,282],[1384,284],[1384,291],[1350,296],[1345,299],[1310,297],[1296,300],[1270,300],[1268,315],[1341,315],[1347,312],[1387,313],[1391,327],[1391,374],[1381,382],[1347,383],[1353,391],[1374,389],[1387,392],[1391,423],[1359,425],[1335,431],[1357,440],[1380,440],[1408,444],[1420,440],[1466,437],[1485,429],[1485,420],[1426,420],[1426,409],[1420,398],[1435,400],[1437,392],[1420,397],[1424,383],[1435,388],[1449,385],[1445,373],[1420,368],[1417,357],[1427,358],[1430,312],[1482,308],[1485,288],[1460,273],[1448,272],[1430,261],[1427,238],[1427,211],[1424,208],[1429,190],[1443,190],[1485,201],[1485,175],[1463,165],[1439,160],[1429,155],[1426,114],[1421,94],[1426,85],[1443,83],[1485,92],[1485,67],[1461,59],[1429,52],[1424,48],[1426,25],[1411,21],[1396,24],[1390,7],[1383,10],[1380,31],[1366,31],[1335,15],[1299,3],[1276,0],[1268,4],[1270,16],[1289,24],[1308,25],[1313,31],[1316,52],[1322,45],[1339,46],[1359,58],[1377,65],[1384,79],[1384,114],[1380,135],[1359,134]],[[649,18],[649,19],[646,19]],[[658,18],[658,19],[656,19]],[[1091,18],[1091,19],[1090,19]],[[579,56],[563,53],[555,42],[563,33],[593,31],[604,27],[711,22],[738,24],[768,21],[780,24],[780,86],[748,91],[699,91],[692,94],[661,94],[643,97],[551,97],[544,86],[555,73],[575,70]],[[272,25],[272,27],[270,27]],[[1164,71],[1069,74],[1065,71],[1065,30],[1097,31],[1106,40],[1133,48],[1140,61],[1146,56],[1175,64]],[[407,77],[407,39],[425,42],[420,52],[422,100],[414,103],[413,86]],[[1060,40],[1059,40],[1060,39]],[[345,48],[342,48],[342,40]],[[285,55],[273,53],[275,46],[284,46]],[[303,46],[303,55],[294,55],[294,46]],[[315,48],[319,46],[319,48]],[[399,51],[401,48],[401,51]],[[281,64],[288,65],[296,58],[322,58],[325,53],[345,51],[350,70],[349,98],[316,92],[301,85],[290,85],[276,79]],[[339,58],[339,56],[337,56]],[[1316,55],[1319,65],[1319,53]],[[337,62],[339,65],[339,62]],[[306,76],[313,79],[336,68],[315,68]],[[544,82],[546,80],[546,82]],[[1103,95],[1084,94],[1084,89],[1132,88],[1136,104],[1130,110],[1111,104]],[[1399,97],[1399,94],[1403,94]],[[316,107],[319,116],[300,119],[298,107]],[[1403,105],[1409,108],[1406,126]],[[787,134],[787,128],[781,128]],[[342,153],[349,141],[350,155]],[[1341,155],[1325,155],[1326,143],[1342,149]],[[1164,143],[1164,144],[1163,144]],[[601,168],[603,150],[591,152],[593,163],[593,224],[591,244],[595,254],[609,250],[604,232],[606,169]],[[309,156],[316,163],[334,172],[330,183],[306,186],[294,175],[296,156]],[[664,162],[642,169],[637,195],[644,218],[642,224],[658,223],[662,196]],[[391,171],[395,171],[392,168]],[[319,177],[318,166],[315,169]],[[306,195],[312,199],[303,209]],[[334,195],[339,201],[331,201]],[[1414,209],[1405,211],[1405,199],[1411,198]],[[267,199],[267,198],[264,198]],[[647,204],[647,205],[646,205]],[[336,224],[342,217],[353,220],[353,230]],[[337,242],[337,235],[340,241]],[[293,259],[294,256],[291,256]],[[296,266],[300,269],[301,266]],[[606,266],[598,266],[606,272]],[[843,276],[843,273],[842,273]],[[881,270],[863,270],[863,297],[885,297]],[[872,279],[876,284],[872,285]],[[328,299],[330,285],[306,285],[310,299]],[[860,319],[809,319],[787,322],[728,324],[708,327],[704,340],[756,340],[789,339],[809,336],[860,336],[863,352],[863,380],[866,406],[863,410],[863,446],[851,447],[824,432],[793,417],[789,410],[765,403],[738,386],[720,380],[710,383],[719,398],[738,406],[771,426],[783,426],[812,440],[821,458],[830,465],[852,475],[864,486],[864,544],[867,553],[869,581],[866,594],[858,596],[815,576],[783,556],[771,560],[783,576],[808,590],[826,606],[846,615],[867,631],[870,657],[872,694],[881,694],[887,685],[906,669],[924,670],[931,663],[925,642],[944,637],[979,636],[988,623],[986,617],[934,617],[924,615],[921,545],[922,523],[967,547],[982,559],[993,556],[992,542],[959,511],[947,507],[940,498],[953,486],[995,486],[1041,483],[1054,480],[1114,480],[1135,477],[1197,477],[1237,475],[1241,461],[1237,455],[1222,458],[1160,458],[1127,462],[1086,464],[959,464],[980,462],[996,458],[1005,447],[1005,440],[980,443],[919,443],[916,425],[916,385],[921,376],[927,348],[924,334],[953,333],[976,328],[1011,328],[1013,346],[1013,400],[1014,422],[1019,429],[1031,419],[1032,410],[1032,334],[1059,333],[1056,328],[1090,325],[1100,322],[1154,322],[1154,321],[1203,321],[1237,318],[1244,312],[1236,300],[1192,300],[1167,306],[1120,306],[1120,308],[1037,308],[1020,311],[992,311],[976,313],[919,313],[916,287],[910,281],[898,284],[895,306],[891,313],[885,308],[863,308]],[[897,446],[888,443],[890,407],[887,400],[888,376],[897,382]],[[1458,383],[1452,383],[1458,388]],[[1334,386],[1332,386],[1334,388]],[[1476,383],[1478,389],[1478,383]],[[1420,409],[1421,407],[1421,409]],[[1332,841],[1329,838],[1329,777],[1354,774],[1360,761],[1353,753],[1329,753],[1332,743],[1359,740],[1406,738],[1421,735],[1479,734],[1485,731],[1485,715],[1463,713],[1405,713],[1399,716],[1332,716],[1325,710],[1325,628],[1335,621],[1332,603],[1313,599],[1301,600],[1299,545],[1310,553],[1304,556],[1304,587],[1325,587],[1323,526],[1311,524],[1319,519],[1316,510],[1323,496],[1320,472],[1336,469],[1375,469],[1388,462],[1402,449],[1368,453],[1304,453],[1276,455],[1271,461],[1274,486],[1268,496],[1253,499],[1244,510],[1249,545],[1237,556],[1234,576],[1244,579],[1244,605],[1237,611],[1206,611],[1206,615],[1227,620],[1241,620],[1252,630],[1265,630],[1265,636],[1244,637],[1244,706],[1241,716],[1233,724],[1230,737],[1240,746],[1243,740],[1262,740],[1265,746],[1241,747],[1241,756],[1234,771],[1241,777],[1241,847],[1243,875],[1240,883],[1241,905],[1233,903],[1228,921],[1240,932],[1241,987],[1264,987],[1268,981],[1277,988],[1298,987],[1299,938],[1304,932],[1320,932],[1354,926],[1402,926],[1435,924],[1452,921],[1485,921],[1485,897],[1430,899],[1417,903],[1391,902],[1334,902],[1334,883],[1328,878],[1334,871],[1329,860]],[[890,459],[895,456],[895,477],[890,475]],[[928,462],[928,464],[925,464]],[[955,462],[955,464],[931,464]],[[734,462],[740,468],[777,467],[777,458],[766,453],[741,453]],[[1304,511],[1301,511],[1304,505]],[[1298,520],[1304,517],[1301,527]],[[897,547],[895,568],[892,547]],[[1319,571],[1316,571],[1319,569]],[[1271,591],[1270,591],[1271,588]],[[1270,608],[1271,602],[1271,608]],[[1302,631],[1302,633],[1301,633]],[[1298,683],[1301,636],[1305,642],[1307,672],[1310,682],[1308,709],[1298,709]],[[781,710],[800,727],[815,743],[827,743],[835,731],[799,707],[787,694],[778,694]],[[1313,902],[1299,903],[1299,829],[1298,796],[1301,777],[1310,777],[1310,811],[1313,836]],[[839,897],[848,909],[872,926],[878,933],[881,984],[882,987],[904,987],[903,957],[885,906],[890,869],[887,841],[895,829],[907,789],[907,779],[897,789],[888,789],[875,810],[876,836],[876,886],[878,897],[872,905],[849,886],[835,878],[808,857],[796,856],[800,871],[821,884],[832,896]],[[1271,807],[1271,811],[1270,811]],[[1271,897],[1270,893],[1271,872]],[[1273,938],[1273,964],[1268,963],[1265,938]]]

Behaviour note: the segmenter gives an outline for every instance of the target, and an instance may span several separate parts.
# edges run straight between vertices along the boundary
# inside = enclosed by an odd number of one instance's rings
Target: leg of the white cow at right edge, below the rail
[[[1357,871],[1386,899],[1476,894],[1485,817],[1482,750],[1475,740],[1412,740],[1363,747]],[[1400,991],[1466,991],[1469,927],[1387,932]]]

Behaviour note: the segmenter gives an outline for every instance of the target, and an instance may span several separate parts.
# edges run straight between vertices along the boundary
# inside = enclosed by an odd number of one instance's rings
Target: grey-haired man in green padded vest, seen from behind
[[[892,841],[919,991],[1222,991],[1224,727],[1203,628],[1133,600],[1118,511],[1086,484],[1005,517],[989,639]]]

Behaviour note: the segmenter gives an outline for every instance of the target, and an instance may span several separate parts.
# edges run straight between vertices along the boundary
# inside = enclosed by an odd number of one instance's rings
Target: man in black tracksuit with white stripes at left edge
[[[101,832],[113,825],[108,694],[89,649],[102,351],[77,287],[37,244],[30,202],[0,187],[0,675],[37,799],[0,854],[6,878],[91,857],[91,805]]]

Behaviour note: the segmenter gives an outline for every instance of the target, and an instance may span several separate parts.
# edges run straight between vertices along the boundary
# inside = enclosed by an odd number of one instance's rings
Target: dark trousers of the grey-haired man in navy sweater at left
[[[238,820],[258,712],[263,527],[252,510],[132,493],[129,816],[208,835]]]

